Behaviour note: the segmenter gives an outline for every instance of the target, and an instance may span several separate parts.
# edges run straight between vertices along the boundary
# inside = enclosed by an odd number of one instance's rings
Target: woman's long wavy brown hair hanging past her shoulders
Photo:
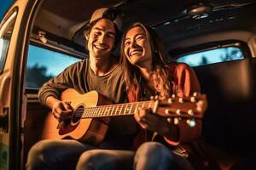
[[[142,80],[141,74],[137,66],[131,65],[131,63],[126,59],[125,56],[125,37],[128,31],[131,28],[140,26],[146,33],[146,37],[150,42],[151,50],[152,50],[152,66],[153,72],[155,75],[154,82],[156,84],[155,91],[161,97],[169,97],[171,94],[171,82],[170,75],[166,71],[166,61],[165,61],[165,53],[164,53],[164,44],[156,34],[156,32],[148,26],[144,26],[142,23],[133,24],[128,30],[125,31],[122,41],[121,41],[121,58],[120,63],[123,67],[123,71],[125,73],[125,83],[126,90],[129,93],[130,91],[135,92],[135,97],[137,100],[140,98],[141,84],[140,80]]]

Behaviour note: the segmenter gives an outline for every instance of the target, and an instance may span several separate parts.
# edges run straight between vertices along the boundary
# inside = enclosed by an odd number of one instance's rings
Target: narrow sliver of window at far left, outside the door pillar
[[[3,71],[3,66],[9,48],[10,38],[15,26],[16,15],[17,12],[11,14],[9,19],[0,28],[0,73]]]

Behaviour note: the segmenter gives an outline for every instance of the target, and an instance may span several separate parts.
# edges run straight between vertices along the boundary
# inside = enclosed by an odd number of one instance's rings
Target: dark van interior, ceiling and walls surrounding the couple
[[[239,48],[242,59],[197,65],[193,69],[201,83],[201,93],[207,94],[208,99],[202,132],[207,144],[227,153],[226,159],[253,154],[254,0],[44,0],[35,15],[30,43],[84,59],[88,54],[84,48],[84,25],[93,11],[102,7],[115,7],[122,13],[124,31],[136,21],[154,28],[165,43],[169,61],[210,49]],[[37,88],[26,88],[24,161],[32,144],[44,139],[44,120],[49,114],[49,109],[38,102],[37,93]]]

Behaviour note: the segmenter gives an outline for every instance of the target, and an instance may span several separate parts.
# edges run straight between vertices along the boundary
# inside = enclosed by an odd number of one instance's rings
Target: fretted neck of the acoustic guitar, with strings
[[[75,112],[84,113],[82,115],[82,118],[94,118],[104,116],[129,116],[133,115],[134,112],[139,108],[151,108],[152,110],[154,110],[155,107],[157,107],[156,102],[154,100],[148,100],[135,103],[101,105],[88,108],[79,107]]]

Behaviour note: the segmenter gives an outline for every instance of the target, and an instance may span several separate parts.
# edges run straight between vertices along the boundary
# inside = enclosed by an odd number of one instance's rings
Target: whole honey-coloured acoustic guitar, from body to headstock
[[[174,123],[186,119],[192,127],[195,119],[201,119],[207,109],[205,94],[111,105],[109,99],[96,91],[79,94],[75,89],[68,88],[61,93],[61,100],[73,107],[73,113],[62,122],[49,113],[44,123],[43,139],[77,139],[88,144],[100,144],[107,133],[111,116],[130,116],[139,108],[151,108],[155,114],[172,119]]]

